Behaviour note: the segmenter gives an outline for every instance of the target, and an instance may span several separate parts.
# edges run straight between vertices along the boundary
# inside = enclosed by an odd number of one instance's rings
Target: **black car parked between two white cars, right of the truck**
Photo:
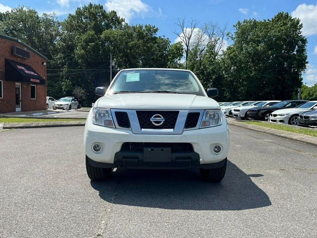
[[[255,120],[269,120],[269,115],[279,109],[286,109],[286,108],[295,108],[303,103],[308,102],[307,100],[285,100],[279,103],[276,103],[270,107],[258,107],[252,108],[248,111],[248,116],[250,119]]]

